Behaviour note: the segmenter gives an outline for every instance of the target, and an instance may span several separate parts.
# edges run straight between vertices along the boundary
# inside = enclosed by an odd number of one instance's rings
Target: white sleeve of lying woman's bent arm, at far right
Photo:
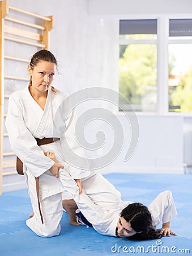
[[[167,223],[177,215],[176,206],[174,205],[172,192],[164,191],[152,201],[148,209],[151,212],[153,227],[155,228],[161,222]]]

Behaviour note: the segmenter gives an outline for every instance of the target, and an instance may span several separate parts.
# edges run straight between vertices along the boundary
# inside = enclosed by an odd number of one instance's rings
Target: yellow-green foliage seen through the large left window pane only
[[[146,87],[156,86],[156,61],[156,45],[130,44],[126,48],[120,46],[120,93],[131,104],[140,104]]]

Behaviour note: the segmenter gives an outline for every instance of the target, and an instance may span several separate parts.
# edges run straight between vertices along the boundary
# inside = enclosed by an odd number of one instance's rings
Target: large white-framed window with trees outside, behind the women
[[[119,90],[138,112],[192,112],[192,19],[120,20]]]

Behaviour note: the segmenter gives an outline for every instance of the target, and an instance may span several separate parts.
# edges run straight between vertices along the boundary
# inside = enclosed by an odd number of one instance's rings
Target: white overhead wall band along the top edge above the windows
[[[89,0],[91,15],[165,15],[190,14],[191,0]]]

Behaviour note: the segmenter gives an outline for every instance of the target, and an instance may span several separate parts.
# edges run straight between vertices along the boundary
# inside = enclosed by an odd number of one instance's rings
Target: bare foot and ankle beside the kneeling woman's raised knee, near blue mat
[[[66,210],[69,216],[69,223],[71,225],[79,226],[78,222],[76,222],[75,210],[78,209],[75,201],[73,199],[63,200],[63,209]]]

